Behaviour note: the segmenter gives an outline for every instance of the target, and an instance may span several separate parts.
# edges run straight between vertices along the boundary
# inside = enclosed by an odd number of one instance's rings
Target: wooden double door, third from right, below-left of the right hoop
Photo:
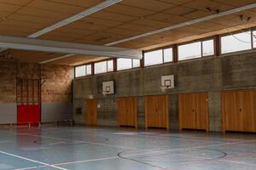
[[[145,127],[169,128],[167,95],[145,96]]]

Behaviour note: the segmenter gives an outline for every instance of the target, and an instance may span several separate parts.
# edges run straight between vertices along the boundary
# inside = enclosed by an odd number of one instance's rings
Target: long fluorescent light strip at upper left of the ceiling
[[[85,16],[88,16],[90,14],[96,13],[97,11],[102,10],[103,8],[108,8],[109,6],[115,4],[115,3],[119,3],[122,0],[107,0],[104,1],[103,3],[100,3],[92,8],[88,8],[86,10],[84,10],[83,12],[79,13],[79,14],[75,14],[65,20],[61,20],[60,22],[55,23],[52,26],[48,26],[46,28],[44,28],[43,30],[37,31],[31,35],[29,35],[28,37],[40,37],[46,33],[48,33],[49,31],[54,31],[57,28],[60,28],[61,26],[67,26],[68,24],[76,21],[76,20],[80,20],[82,18],[84,18]]]

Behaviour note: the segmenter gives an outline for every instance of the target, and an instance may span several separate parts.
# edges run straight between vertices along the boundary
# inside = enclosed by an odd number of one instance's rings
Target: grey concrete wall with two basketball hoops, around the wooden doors
[[[177,95],[180,93],[208,92],[210,130],[221,130],[220,92],[225,89],[256,88],[256,53],[233,54],[183,61],[177,64],[155,65],[131,71],[119,71],[91,77],[75,79],[73,87],[74,109],[83,108],[82,115],[73,117],[84,123],[86,108],[84,99],[97,99],[98,124],[117,125],[117,105],[119,96],[138,97],[138,123],[144,125],[143,96],[167,94],[170,97],[170,127],[178,128]],[[175,75],[175,88],[166,92],[160,90],[160,77]],[[114,80],[116,94],[102,96],[102,82]]]

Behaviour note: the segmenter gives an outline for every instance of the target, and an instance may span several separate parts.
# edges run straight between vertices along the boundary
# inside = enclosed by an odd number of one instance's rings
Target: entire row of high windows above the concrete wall
[[[215,55],[216,39],[207,38],[194,42],[178,44],[177,61],[186,59],[198,59],[207,56]],[[230,33],[219,37],[219,52],[220,54],[229,54],[237,51],[249,50],[256,48],[256,31],[240,31],[238,33]],[[161,48],[153,51],[148,51],[143,54],[143,66],[160,65],[164,63],[171,63],[174,60],[173,47]],[[75,67],[75,77],[84,77],[93,74],[102,74],[114,71],[123,71],[133,68],[141,67],[140,59],[113,59],[103,60],[87,65],[79,65]]]

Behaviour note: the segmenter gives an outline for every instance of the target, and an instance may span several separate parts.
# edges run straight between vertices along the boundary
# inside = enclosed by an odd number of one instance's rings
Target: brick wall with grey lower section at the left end
[[[73,117],[73,67],[0,62],[0,124],[17,122],[16,77],[45,80],[42,86],[42,122]]]

